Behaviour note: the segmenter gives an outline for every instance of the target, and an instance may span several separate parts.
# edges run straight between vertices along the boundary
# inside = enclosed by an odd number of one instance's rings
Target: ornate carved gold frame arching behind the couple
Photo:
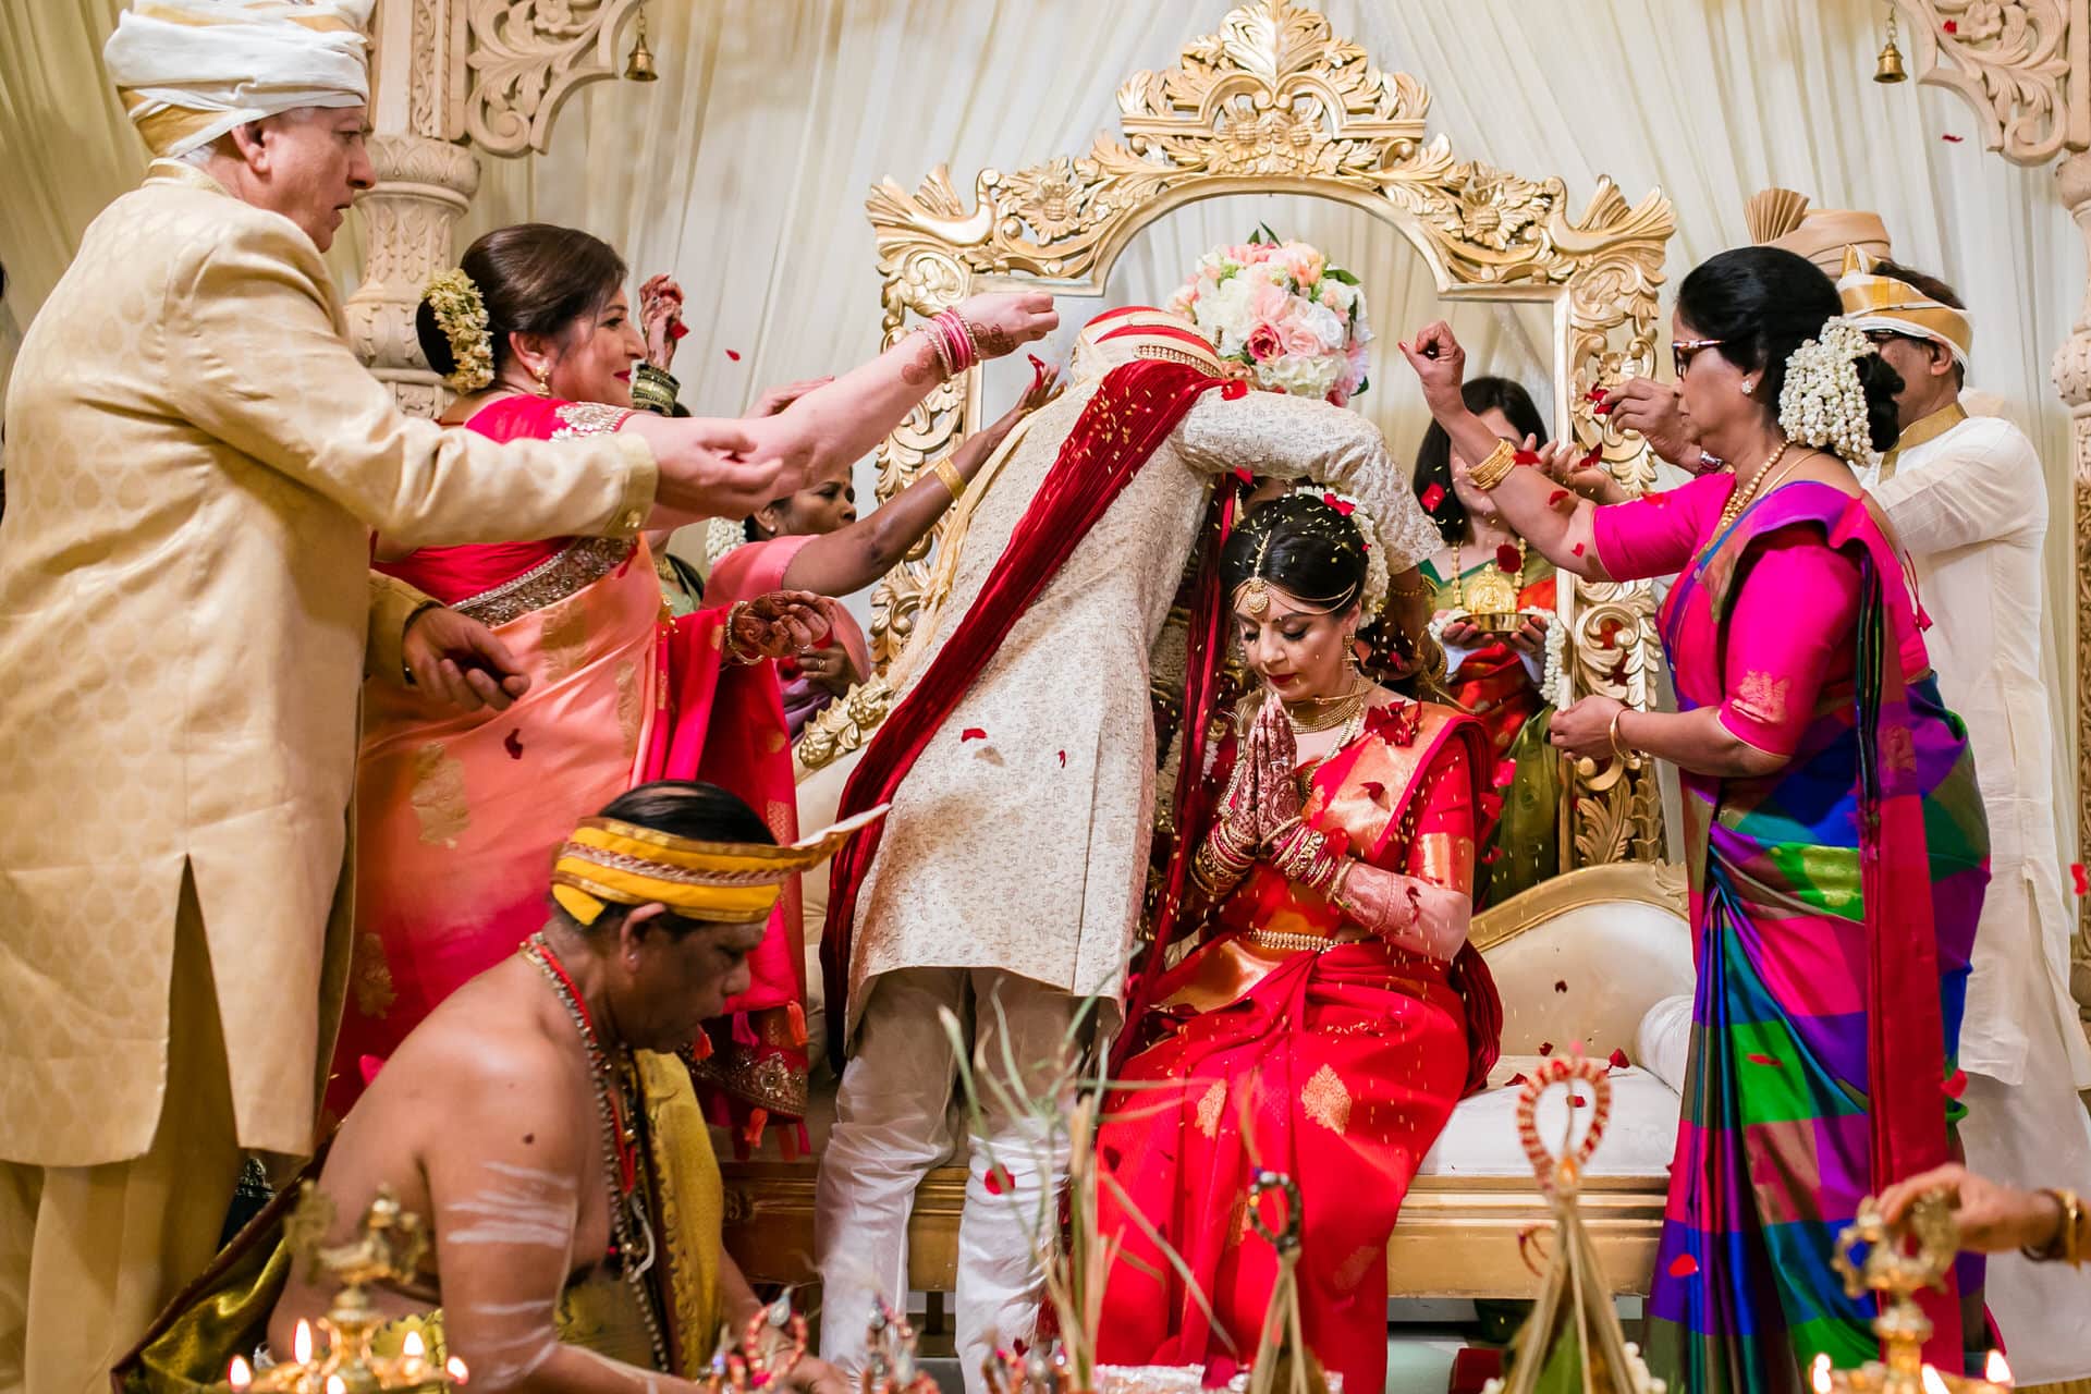
[[[870,201],[884,278],[884,341],[985,284],[1037,284],[1102,295],[1131,238],[1175,207],[1238,192],[1313,194],[1393,224],[1428,261],[1447,299],[1552,301],[1556,378],[1568,428],[1602,449],[1629,487],[1652,481],[1637,439],[1591,414],[1589,389],[1652,370],[1656,288],[1675,222],[1660,192],[1629,205],[1600,180],[1581,215],[1562,180],[1524,180],[1462,161],[1430,138],[1428,90],[1372,65],[1324,15],[1292,0],[1255,0],[1192,40],[1177,67],[1135,73],[1119,88],[1123,138],[1102,134],[1087,155],[1002,173],[985,169],[972,201],[945,167],[907,194],[880,184]],[[878,497],[903,489],[926,460],[974,424],[979,372],[935,391],[878,454]],[[914,631],[935,539],[874,594],[872,648],[891,663]],[[1650,706],[1660,648],[1646,583],[1564,587],[1568,677],[1577,696],[1604,692]],[[855,748],[884,715],[880,679],[815,721],[801,763],[820,767]],[[1654,771],[1591,788],[1575,800],[1577,865],[1660,857]]]

